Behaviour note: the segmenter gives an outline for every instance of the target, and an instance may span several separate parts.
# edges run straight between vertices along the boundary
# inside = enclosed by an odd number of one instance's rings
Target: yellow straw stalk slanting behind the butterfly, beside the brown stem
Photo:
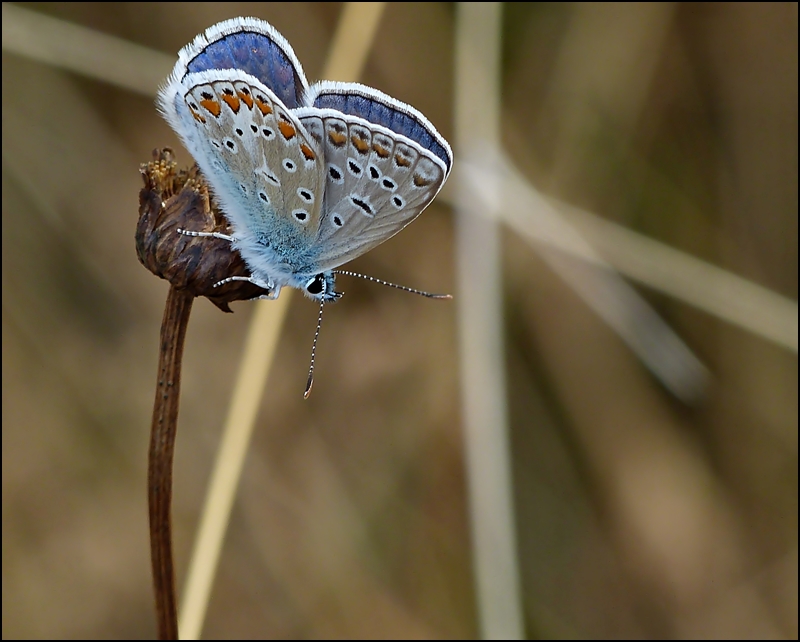
[[[344,5],[323,78],[352,81],[361,75],[383,9],[382,2],[348,2]],[[189,560],[179,609],[178,631],[183,640],[199,639],[202,631],[236,488],[292,292],[291,288],[284,288],[277,300],[255,304]]]

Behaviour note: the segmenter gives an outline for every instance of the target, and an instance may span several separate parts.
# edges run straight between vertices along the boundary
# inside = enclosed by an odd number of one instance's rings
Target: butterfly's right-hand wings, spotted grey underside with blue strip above
[[[320,271],[390,238],[433,200],[452,166],[447,141],[413,107],[355,83],[311,87],[295,110],[325,159],[315,245]]]

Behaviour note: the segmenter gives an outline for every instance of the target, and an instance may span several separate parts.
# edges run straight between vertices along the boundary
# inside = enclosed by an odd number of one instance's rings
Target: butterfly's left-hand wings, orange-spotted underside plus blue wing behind
[[[249,62],[248,47],[267,52],[272,62]],[[248,71],[224,68],[233,64],[261,73],[275,91]],[[198,36],[181,51],[159,92],[161,111],[203,170],[243,258],[265,280],[315,263],[323,159],[280,97],[297,104],[304,92],[291,48],[272,27],[252,19],[228,21]]]

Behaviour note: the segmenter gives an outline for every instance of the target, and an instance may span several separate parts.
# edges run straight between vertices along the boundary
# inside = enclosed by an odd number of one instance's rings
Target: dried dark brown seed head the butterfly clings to
[[[209,198],[203,176],[194,165],[177,170],[171,149],[154,150],[140,168],[136,253],[148,270],[173,286],[207,297],[224,312],[231,301],[252,299],[264,291],[245,281],[214,287],[229,276],[249,276],[239,253],[228,241],[185,236],[178,229],[231,234],[228,222]]]

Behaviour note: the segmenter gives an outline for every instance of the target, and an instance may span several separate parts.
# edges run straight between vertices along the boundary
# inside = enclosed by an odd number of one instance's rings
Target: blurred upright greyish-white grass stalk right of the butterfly
[[[455,149],[460,158],[496,154],[500,145],[501,11],[500,3],[462,2],[457,8]],[[456,299],[478,623],[485,639],[522,639],[503,359],[500,229],[493,216],[502,186],[492,173],[480,176],[488,198],[475,199],[463,181],[466,176],[459,174],[456,185]]]

